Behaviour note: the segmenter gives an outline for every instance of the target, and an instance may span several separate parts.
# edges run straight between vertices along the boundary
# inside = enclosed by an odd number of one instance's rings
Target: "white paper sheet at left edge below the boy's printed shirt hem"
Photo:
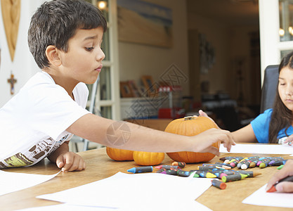
[[[57,173],[59,174],[59,172]],[[48,181],[57,174],[53,175],[40,175],[40,174],[24,174],[4,172],[0,170],[0,196],[11,193],[14,191],[20,191],[25,188],[30,188],[37,184],[41,184],[44,181]]]

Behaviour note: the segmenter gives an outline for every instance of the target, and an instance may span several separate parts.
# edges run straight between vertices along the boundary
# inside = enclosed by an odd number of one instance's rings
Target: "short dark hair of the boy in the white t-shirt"
[[[76,30],[103,27],[107,21],[103,13],[84,0],[53,0],[42,4],[32,16],[28,30],[28,44],[39,68],[49,67],[46,48],[49,45],[67,52],[68,40]]]

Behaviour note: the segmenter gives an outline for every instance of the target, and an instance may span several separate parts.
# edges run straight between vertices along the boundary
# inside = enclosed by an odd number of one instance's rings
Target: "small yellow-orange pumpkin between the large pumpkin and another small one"
[[[164,156],[164,153],[134,151],[134,162],[138,165],[159,165]]]

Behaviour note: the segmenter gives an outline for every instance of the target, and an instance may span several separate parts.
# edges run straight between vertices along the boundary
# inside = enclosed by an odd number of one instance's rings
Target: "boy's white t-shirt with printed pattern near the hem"
[[[0,108],[0,168],[34,165],[71,139],[66,129],[89,113],[86,84],[72,93],[38,72]]]

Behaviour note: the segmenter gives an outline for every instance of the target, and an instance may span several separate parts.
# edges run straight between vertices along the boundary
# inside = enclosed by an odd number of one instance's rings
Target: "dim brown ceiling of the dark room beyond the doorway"
[[[259,25],[258,0],[187,0],[187,11],[228,25]]]

